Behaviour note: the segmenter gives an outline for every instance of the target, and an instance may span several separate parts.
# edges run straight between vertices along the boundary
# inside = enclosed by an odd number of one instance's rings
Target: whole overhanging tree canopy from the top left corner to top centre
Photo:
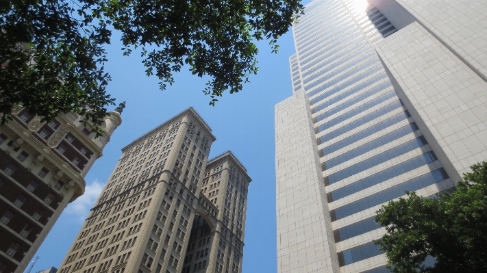
[[[0,3],[0,113],[15,105],[51,120],[60,112],[99,125],[114,99],[104,44],[121,31],[124,55],[138,51],[164,90],[187,65],[210,76],[210,105],[258,72],[254,40],[277,38],[303,12],[298,0],[5,0]]]

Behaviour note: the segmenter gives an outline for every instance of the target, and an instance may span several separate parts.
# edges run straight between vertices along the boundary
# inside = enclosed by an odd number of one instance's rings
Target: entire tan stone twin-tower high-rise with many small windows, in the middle
[[[190,107],[123,148],[58,272],[241,272],[250,178],[214,140]]]

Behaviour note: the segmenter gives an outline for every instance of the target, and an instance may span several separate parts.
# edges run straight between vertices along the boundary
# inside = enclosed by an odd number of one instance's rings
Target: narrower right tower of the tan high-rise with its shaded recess
[[[182,273],[242,271],[250,181],[247,170],[230,151],[208,161]],[[208,210],[218,211],[216,217]]]

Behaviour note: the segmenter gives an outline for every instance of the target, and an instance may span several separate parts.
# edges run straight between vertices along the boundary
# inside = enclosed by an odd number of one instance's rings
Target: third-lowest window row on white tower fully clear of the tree
[[[363,172],[364,170],[368,170],[373,166],[382,164],[386,161],[389,161],[390,159],[393,159],[395,157],[398,157],[399,155],[403,155],[405,153],[413,151],[414,149],[424,146],[426,144],[427,142],[425,138],[423,137],[423,135],[421,135],[419,138],[414,138],[414,140],[410,140],[399,146],[390,148],[389,150],[383,153],[379,153],[378,155],[374,155],[369,159],[366,159],[357,164],[344,168],[338,172],[335,172],[334,174],[330,174],[328,176],[328,181],[330,184],[336,183],[342,179],[351,177],[352,175],[358,174],[359,172]]]

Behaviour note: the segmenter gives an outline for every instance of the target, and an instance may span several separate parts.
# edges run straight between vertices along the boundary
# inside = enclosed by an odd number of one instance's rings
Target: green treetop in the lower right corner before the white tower
[[[375,220],[387,233],[375,241],[392,272],[487,272],[487,162],[471,166],[456,190],[391,201]],[[433,257],[434,265],[425,259]]]

